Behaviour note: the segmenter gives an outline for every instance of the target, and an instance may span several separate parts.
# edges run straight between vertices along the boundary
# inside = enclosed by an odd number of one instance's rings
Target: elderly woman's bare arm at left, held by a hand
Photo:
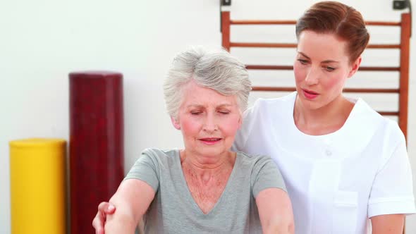
[[[105,233],[135,233],[154,195],[154,189],[142,180],[124,180],[109,201],[117,209],[106,216]]]

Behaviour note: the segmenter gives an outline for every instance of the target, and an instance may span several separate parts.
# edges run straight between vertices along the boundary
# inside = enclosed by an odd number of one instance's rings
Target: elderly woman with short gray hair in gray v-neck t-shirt
[[[281,173],[268,156],[231,152],[251,89],[226,51],[178,54],[164,83],[166,107],[185,149],[145,149],[110,203],[102,233],[293,233]]]

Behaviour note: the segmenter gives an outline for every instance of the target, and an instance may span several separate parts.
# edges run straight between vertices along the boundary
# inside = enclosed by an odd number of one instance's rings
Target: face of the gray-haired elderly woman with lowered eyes
[[[224,96],[195,82],[183,87],[178,120],[185,150],[204,157],[226,154],[242,119],[235,96]]]

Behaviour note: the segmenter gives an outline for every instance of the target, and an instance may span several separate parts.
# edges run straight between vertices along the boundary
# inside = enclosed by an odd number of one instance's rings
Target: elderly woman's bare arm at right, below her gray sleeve
[[[256,197],[263,233],[295,233],[292,204],[279,188],[262,190]]]

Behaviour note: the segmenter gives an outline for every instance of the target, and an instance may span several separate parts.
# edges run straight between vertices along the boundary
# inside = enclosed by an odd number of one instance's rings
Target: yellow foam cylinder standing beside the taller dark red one
[[[9,147],[11,233],[66,233],[66,141],[32,138]]]

